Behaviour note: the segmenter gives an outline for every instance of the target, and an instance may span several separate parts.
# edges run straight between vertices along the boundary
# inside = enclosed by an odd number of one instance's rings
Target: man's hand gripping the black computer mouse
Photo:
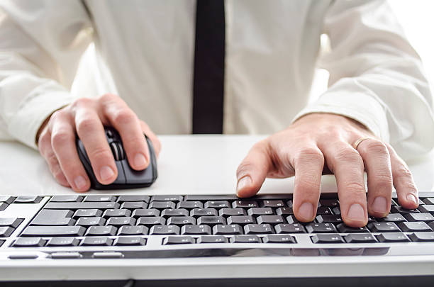
[[[148,135],[158,155],[160,140],[148,125],[118,96],[106,94],[96,99],[77,99],[50,116],[38,132],[38,148],[52,175],[62,186],[74,191],[89,190],[89,177],[77,154],[76,134],[82,140],[96,179],[111,184],[118,177],[104,125],[111,125],[121,135],[130,166],[148,167],[150,154],[143,133]]]

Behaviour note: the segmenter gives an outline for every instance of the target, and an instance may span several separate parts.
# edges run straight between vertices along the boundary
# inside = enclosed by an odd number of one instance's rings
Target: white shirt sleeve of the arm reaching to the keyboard
[[[308,113],[335,113],[364,124],[401,157],[434,146],[433,97],[421,60],[386,1],[334,1],[325,16],[330,52],[319,66],[329,88]]]

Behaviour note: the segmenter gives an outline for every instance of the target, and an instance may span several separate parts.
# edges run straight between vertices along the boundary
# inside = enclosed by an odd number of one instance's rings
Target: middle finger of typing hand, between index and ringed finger
[[[326,142],[319,147],[336,177],[344,223],[352,227],[365,226],[367,204],[362,157],[346,142]]]

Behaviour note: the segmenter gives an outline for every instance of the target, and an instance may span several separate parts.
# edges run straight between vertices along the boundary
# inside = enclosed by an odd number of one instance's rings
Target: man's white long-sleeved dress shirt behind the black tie
[[[191,133],[194,0],[1,0],[0,125],[35,147],[93,42],[117,93],[157,134]],[[226,0],[224,133],[270,134],[313,112],[364,124],[402,157],[434,146],[421,62],[385,1]],[[320,36],[330,51],[320,54]],[[309,104],[315,67],[329,89]],[[99,95],[79,95],[99,96]],[[6,135],[7,133],[7,135]]]

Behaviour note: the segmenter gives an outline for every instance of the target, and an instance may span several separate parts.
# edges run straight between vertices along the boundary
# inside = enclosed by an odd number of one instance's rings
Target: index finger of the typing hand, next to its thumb
[[[291,162],[295,169],[294,215],[300,221],[313,221],[321,193],[323,154],[316,145],[304,147],[294,152]]]

